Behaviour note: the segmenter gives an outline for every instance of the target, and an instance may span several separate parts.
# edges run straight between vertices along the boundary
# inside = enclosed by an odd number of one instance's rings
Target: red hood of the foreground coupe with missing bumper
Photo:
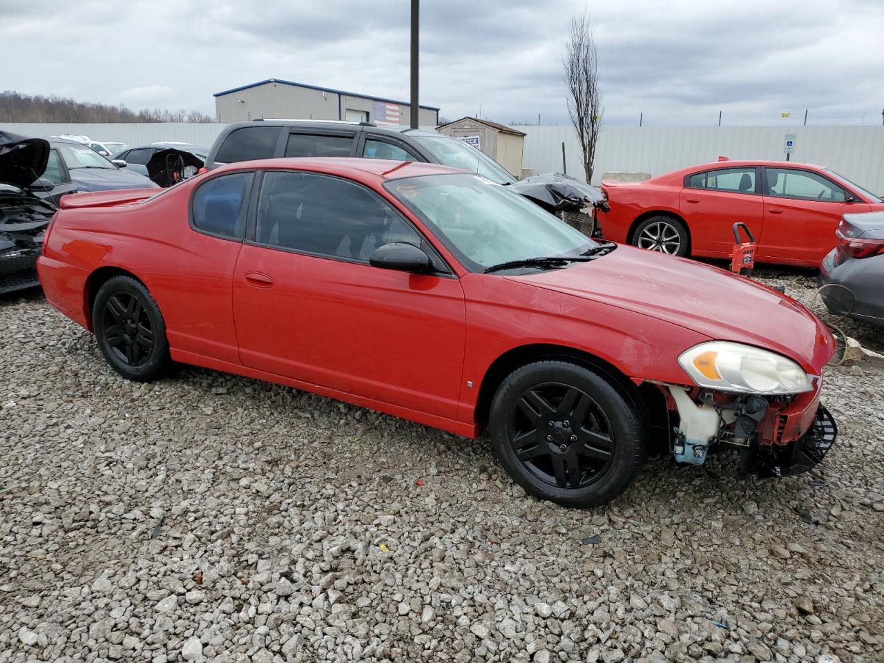
[[[784,354],[819,375],[834,339],[801,304],[717,267],[628,246],[590,263],[506,277]]]

